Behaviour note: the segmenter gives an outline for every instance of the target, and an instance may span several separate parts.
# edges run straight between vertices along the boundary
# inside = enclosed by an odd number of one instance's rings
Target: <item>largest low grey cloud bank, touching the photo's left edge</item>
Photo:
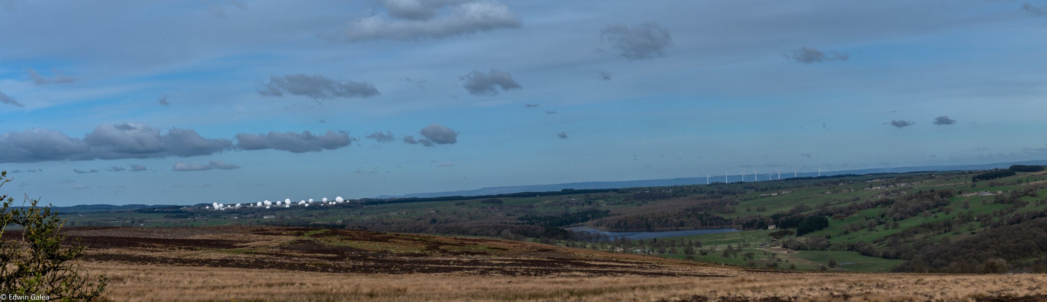
[[[203,138],[191,129],[176,127],[161,134],[139,123],[102,124],[83,139],[30,129],[0,134],[0,162],[192,157],[231,147],[229,139]]]

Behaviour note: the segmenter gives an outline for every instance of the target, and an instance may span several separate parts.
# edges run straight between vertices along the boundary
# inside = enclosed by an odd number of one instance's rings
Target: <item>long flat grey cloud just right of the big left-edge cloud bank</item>
[[[329,130],[327,134],[316,136],[306,131],[303,133],[279,133],[268,134],[237,134],[237,148],[245,150],[253,149],[279,149],[291,153],[319,152],[321,149],[337,149],[348,146],[357,138],[349,136],[343,131],[334,132]]]

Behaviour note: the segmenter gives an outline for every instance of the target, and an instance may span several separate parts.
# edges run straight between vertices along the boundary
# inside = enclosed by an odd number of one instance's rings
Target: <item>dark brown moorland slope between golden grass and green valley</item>
[[[87,260],[355,274],[729,276],[695,262],[498,239],[262,226],[70,228]]]

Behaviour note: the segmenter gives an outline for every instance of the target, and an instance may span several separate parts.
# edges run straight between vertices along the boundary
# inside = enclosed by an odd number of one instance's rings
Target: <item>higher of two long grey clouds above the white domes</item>
[[[313,99],[371,97],[380,94],[371,83],[338,82],[319,74],[270,75],[269,83],[263,83],[259,93],[267,96],[284,96],[284,93],[288,93]]]

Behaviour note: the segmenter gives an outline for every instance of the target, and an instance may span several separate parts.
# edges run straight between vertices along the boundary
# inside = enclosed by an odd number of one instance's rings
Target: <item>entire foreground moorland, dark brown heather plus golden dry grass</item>
[[[113,301],[1047,301],[1047,275],[753,271],[530,242],[280,227],[71,228]]]

